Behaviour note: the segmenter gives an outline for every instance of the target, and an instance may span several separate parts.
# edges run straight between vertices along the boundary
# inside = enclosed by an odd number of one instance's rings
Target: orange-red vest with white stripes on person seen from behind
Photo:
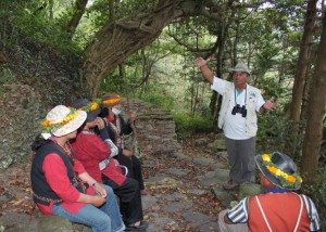
[[[293,231],[300,214],[300,197],[296,193],[265,193],[259,195],[262,209],[273,232]],[[297,231],[310,231],[310,221],[302,198],[302,215]],[[249,199],[250,231],[269,231],[254,196]]]

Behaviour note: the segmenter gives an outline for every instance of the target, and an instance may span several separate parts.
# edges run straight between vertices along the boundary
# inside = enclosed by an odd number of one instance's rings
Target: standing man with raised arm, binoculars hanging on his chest
[[[258,130],[256,114],[276,108],[274,96],[264,101],[261,90],[248,85],[251,78],[249,68],[238,63],[228,70],[233,82],[215,77],[208,67],[210,59],[196,59],[203,77],[211,83],[211,89],[222,96],[218,115],[218,128],[223,129],[228,162],[229,180],[223,184],[225,190],[235,190],[239,184],[255,181],[255,136]]]

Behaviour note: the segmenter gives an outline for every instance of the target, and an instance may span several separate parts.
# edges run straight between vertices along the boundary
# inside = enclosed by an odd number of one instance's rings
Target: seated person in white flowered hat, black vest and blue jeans
[[[43,139],[32,145],[33,198],[41,212],[91,227],[92,231],[124,231],[112,189],[98,183],[75,159],[70,140],[84,124],[86,112],[58,105],[42,121]]]

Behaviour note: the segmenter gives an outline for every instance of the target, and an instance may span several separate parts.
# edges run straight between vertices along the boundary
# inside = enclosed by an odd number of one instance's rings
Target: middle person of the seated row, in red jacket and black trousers
[[[98,127],[102,137],[108,133],[104,123],[100,117],[98,103],[90,102],[87,99],[78,99],[73,107],[87,111],[87,119],[84,126],[78,130],[77,137],[72,142],[73,151],[85,169],[98,182],[103,182],[112,186],[114,193],[120,197],[121,212],[127,230],[145,230],[148,228],[148,221],[143,220],[141,196],[139,184],[135,179],[123,175],[118,163],[111,158],[112,152],[109,145],[103,141],[108,139],[99,137],[93,132]],[[117,154],[117,152],[116,152]],[[100,168],[99,164],[106,160],[106,167]]]

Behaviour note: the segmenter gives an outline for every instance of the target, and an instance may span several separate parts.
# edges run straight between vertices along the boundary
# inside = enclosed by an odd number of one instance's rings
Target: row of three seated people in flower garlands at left
[[[53,107],[32,145],[33,197],[41,212],[86,224],[92,231],[146,230],[140,160],[124,147],[131,124],[115,93]],[[118,203],[115,195],[118,197]],[[118,207],[120,205],[120,207]]]

